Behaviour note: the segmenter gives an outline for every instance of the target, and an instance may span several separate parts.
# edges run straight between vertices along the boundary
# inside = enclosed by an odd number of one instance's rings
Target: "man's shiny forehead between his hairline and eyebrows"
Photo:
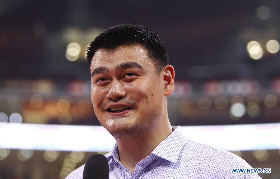
[[[133,61],[142,64],[144,67],[153,66],[147,50],[141,45],[122,45],[115,49],[101,48],[96,51],[91,60],[91,71],[96,67],[115,67],[125,61]]]

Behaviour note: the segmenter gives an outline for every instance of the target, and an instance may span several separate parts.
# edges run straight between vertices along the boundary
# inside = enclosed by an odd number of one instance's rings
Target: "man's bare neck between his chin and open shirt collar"
[[[162,120],[139,134],[115,137],[119,150],[119,160],[131,173],[138,162],[151,152],[172,132],[167,114]]]

